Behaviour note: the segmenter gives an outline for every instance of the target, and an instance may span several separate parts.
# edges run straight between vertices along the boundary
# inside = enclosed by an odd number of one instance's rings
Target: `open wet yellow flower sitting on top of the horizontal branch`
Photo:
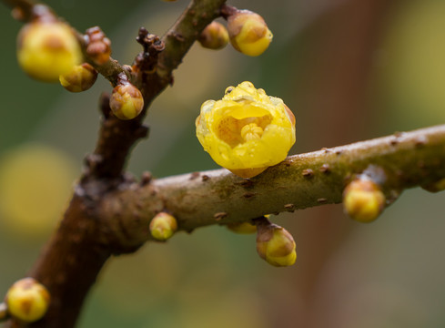
[[[197,117],[197,138],[213,160],[251,178],[288,156],[295,118],[278,97],[250,82],[228,87],[221,100],[207,100]]]

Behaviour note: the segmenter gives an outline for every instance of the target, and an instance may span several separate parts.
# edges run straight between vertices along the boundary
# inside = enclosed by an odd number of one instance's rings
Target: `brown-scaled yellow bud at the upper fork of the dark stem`
[[[136,118],[144,108],[144,98],[137,87],[129,82],[117,85],[110,97],[110,108],[116,118]]]

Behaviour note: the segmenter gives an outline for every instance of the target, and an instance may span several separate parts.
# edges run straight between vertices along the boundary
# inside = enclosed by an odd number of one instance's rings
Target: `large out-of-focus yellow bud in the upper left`
[[[54,21],[26,24],[17,37],[17,58],[30,77],[56,82],[82,61],[82,51],[71,28]]]

